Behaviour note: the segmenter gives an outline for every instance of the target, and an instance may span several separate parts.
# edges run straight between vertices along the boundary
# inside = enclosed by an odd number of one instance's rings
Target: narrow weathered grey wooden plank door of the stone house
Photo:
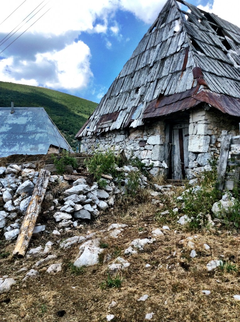
[[[172,178],[183,179],[188,168],[189,123],[173,126],[172,129]]]

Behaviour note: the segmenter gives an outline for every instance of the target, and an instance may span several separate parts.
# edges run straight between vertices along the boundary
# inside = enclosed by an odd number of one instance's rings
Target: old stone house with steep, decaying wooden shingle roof
[[[81,151],[115,146],[168,178],[191,178],[239,134],[240,29],[168,0],[76,134]]]

